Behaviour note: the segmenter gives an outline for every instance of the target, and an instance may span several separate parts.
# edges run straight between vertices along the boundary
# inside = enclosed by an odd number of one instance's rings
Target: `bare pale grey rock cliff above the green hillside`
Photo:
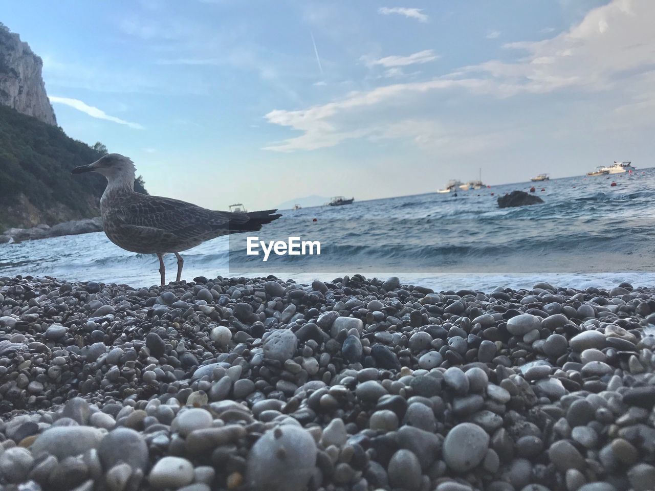
[[[0,104],[19,113],[56,125],[54,111],[41,78],[43,62],[0,23]]]

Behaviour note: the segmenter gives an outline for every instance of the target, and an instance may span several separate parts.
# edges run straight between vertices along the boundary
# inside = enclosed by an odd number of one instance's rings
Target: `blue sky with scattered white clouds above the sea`
[[[0,7],[69,136],[207,208],[654,165],[652,0]]]

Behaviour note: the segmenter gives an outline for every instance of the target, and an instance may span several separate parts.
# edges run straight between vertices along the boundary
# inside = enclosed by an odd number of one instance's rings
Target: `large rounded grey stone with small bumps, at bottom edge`
[[[305,429],[269,429],[248,454],[248,486],[258,491],[303,491],[314,473],[316,443]]]

